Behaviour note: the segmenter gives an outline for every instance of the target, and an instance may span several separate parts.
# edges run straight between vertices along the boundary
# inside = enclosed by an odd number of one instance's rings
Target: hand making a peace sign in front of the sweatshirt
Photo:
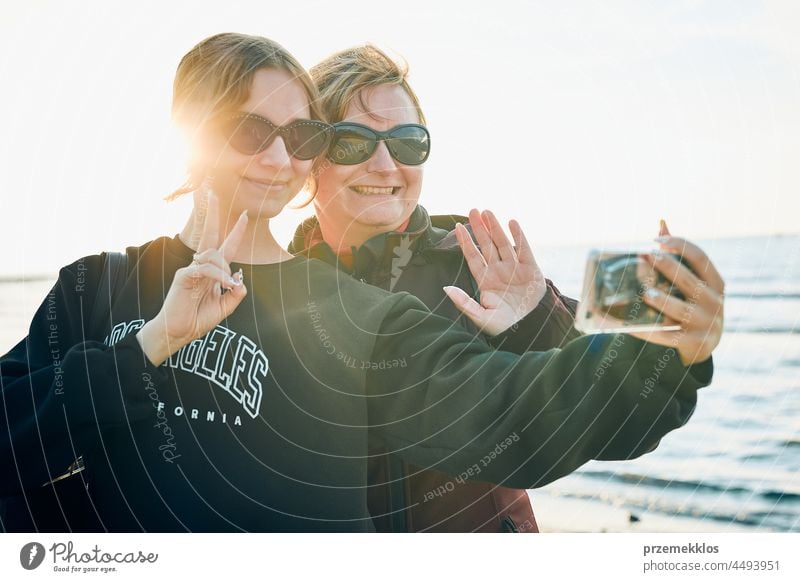
[[[220,244],[219,203],[216,196],[208,195],[203,234],[194,260],[175,272],[161,311],[136,336],[153,364],[160,365],[184,345],[203,337],[245,298],[242,273],[231,274],[229,263],[246,227],[247,214],[242,213]]]

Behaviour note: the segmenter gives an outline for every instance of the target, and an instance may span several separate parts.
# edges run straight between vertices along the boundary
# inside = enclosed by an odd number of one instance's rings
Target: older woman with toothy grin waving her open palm
[[[316,216],[298,228],[290,250],[408,291],[500,349],[548,350],[578,337],[575,301],[545,280],[516,221],[512,247],[491,212],[473,210],[468,222],[479,251],[465,217],[429,216],[418,204],[431,137],[406,72],[373,46],[311,69],[336,136],[319,171]],[[454,482],[391,452],[373,455],[370,509],[381,531],[537,531],[523,490]],[[446,494],[429,498],[431,491]]]

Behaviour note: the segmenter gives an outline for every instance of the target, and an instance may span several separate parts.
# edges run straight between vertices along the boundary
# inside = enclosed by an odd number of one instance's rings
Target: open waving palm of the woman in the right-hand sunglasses
[[[547,284],[516,220],[508,224],[516,248],[490,211],[480,213],[472,209],[469,223],[480,249],[461,224],[456,225],[456,238],[478,285],[480,303],[458,287],[444,290],[456,307],[483,332],[497,335],[539,305]]]

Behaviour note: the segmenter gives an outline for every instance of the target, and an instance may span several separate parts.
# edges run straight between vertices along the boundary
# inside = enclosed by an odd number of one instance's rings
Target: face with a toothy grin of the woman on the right
[[[399,85],[362,90],[350,102],[341,121],[353,121],[377,131],[420,123],[414,103]],[[318,176],[314,206],[326,241],[334,248],[349,248],[360,246],[378,233],[396,230],[417,205],[422,167],[395,161],[384,142],[361,164],[325,163]]]

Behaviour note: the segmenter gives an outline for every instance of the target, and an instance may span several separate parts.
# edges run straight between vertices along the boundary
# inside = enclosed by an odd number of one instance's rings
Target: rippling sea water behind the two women
[[[800,531],[800,236],[702,246],[726,280],[725,333],[694,416],[640,459],[590,462],[537,494],[690,518],[714,531]],[[588,249],[536,254],[545,275],[577,297]],[[54,279],[0,281],[0,353],[24,337]]]

